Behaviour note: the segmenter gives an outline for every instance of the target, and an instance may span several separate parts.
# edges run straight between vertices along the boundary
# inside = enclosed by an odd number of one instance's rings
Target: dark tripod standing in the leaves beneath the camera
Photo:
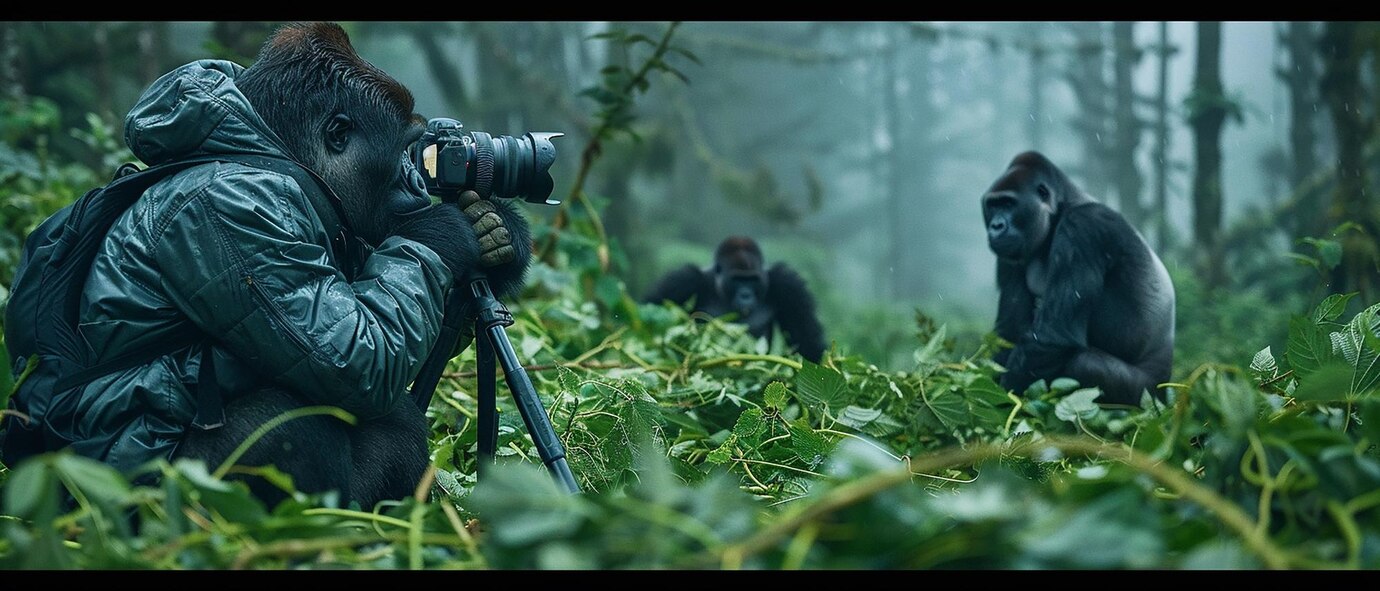
[[[575,483],[575,475],[570,472],[570,464],[566,463],[566,449],[560,445],[560,438],[556,436],[551,418],[546,417],[546,409],[541,406],[541,398],[537,396],[537,389],[533,387],[531,378],[527,377],[527,370],[518,362],[518,353],[513,351],[512,341],[508,340],[508,331],[504,330],[505,326],[512,326],[512,313],[494,297],[489,287],[489,279],[483,273],[475,272],[466,282],[469,283],[468,296],[472,298],[473,307],[477,308],[475,315],[475,359],[479,374],[480,471],[493,463],[494,450],[498,447],[498,385],[494,363],[497,358],[497,362],[504,366],[508,391],[512,392],[513,400],[518,403],[518,411],[527,425],[527,432],[531,434],[531,442],[537,446],[542,464],[546,464],[546,469],[566,490],[578,493],[580,485]],[[413,399],[424,411],[431,406],[431,398],[440,381],[442,370],[446,369],[446,362],[460,340],[460,329],[465,322],[464,311],[468,308],[465,297],[465,290],[460,286],[450,290],[440,337],[436,338],[431,356],[422,363],[417,380],[413,381]]]

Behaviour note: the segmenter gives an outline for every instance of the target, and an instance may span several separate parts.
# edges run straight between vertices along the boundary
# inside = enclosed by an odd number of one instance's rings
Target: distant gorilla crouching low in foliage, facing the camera
[[[778,326],[787,344],[818,363],[824,355],[824,327],[814,312],[814,297],[795,271],[777,262],[765,271],[762,249],[751,238],[730,236],[713,254],[713,265],[686,265],[661,278],[643,301],[684,304],[694,298],[696,312],[711,316],[737,313],[753,337],[766,337]]]

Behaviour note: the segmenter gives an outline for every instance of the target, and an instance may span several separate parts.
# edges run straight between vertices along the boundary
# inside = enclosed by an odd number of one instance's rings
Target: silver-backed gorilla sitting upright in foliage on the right
[[[1174,286],[1121,214],[1094,202],[1038,152],[1024,152],[983,195],[996,254],[995,356],[1002,385],[1072,377],[1098,402],[1163,394],[1174,355]]]

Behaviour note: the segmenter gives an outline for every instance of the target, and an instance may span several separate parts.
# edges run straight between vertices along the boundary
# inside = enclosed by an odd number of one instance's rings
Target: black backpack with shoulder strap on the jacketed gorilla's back
[[[70,417],[76,396],[59,394],[80,388],[95,378],[138,367],[164,355],[195,345],[208,337],[188,327],[159,347],[130,351],[102,363],[92,363],[86,341],[77,330],[79,305],[91,262],[115,221],[153,184],[195,166],[213,162],[241,163],[255,168],[288,174],[308,195],[334,195],[323,191],[319,177],[301,164],[283,157],[258,155],[215,155],[177,160],[139,170],[123,164],[109,185],[88,191],[70,206],[52,214],[23,242],[6,308],[4,340],[10,349],[15,389],[11,413],[0,423],[0,460],[15,465],[21,460],[66,447],[72,442],[54,429],[48,417]],[[338,211],[338,210],[337,210]],[[342,218],[344,220],[344,218]],[[339,239],[344,240],[344,236]],[[207,347],[204,351],[210,351]],[[203,355],[204,355],[203,351]],[[203,358],[196,388],[196,418],[192,425],[213,429],[225,418],[214,376],[214,366]],[[66,402],[72,400],[72,402]]]

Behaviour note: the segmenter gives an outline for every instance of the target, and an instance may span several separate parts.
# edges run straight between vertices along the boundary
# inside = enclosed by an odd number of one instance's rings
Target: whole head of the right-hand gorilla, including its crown
[[[1028,261],[1049,244],[1060,210],[1085,200],[1049,159],[1023,152],[983,195],[987,246],[998,258]]]

